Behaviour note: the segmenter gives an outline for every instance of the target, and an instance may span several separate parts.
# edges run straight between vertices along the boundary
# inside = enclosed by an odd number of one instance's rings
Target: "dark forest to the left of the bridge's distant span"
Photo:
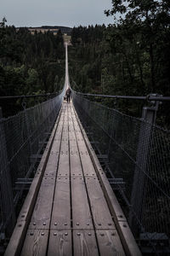
[[[62,33],[35,33],[0,23],[0,96],[30,95],[59,91],[64,84],[65,49]],[[61,85],[62,84],[62,85]],[[20,103],[1,101],[3,114],[10,105],[14,113]]]

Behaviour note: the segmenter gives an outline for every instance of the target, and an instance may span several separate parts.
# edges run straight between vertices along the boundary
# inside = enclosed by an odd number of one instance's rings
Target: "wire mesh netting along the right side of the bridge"
[[[168,243],[170,132],[90,102],[74,91],[73,102],[96,153],[108,156],[108,177],[122,178],[125,183],[118,194],[134,236],[144,234],[154,241],[155,250],[157,237],[166,237]]]

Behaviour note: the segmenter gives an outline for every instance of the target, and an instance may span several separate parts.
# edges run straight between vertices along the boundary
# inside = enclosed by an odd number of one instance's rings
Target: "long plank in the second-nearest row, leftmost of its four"
[[[49,229],[54,196],[54,177],[43,177],[29,229]]]

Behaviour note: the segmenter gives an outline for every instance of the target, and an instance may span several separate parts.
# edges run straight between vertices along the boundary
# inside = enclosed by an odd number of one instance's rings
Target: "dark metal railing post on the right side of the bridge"
[[[156,96],[156,95],[150,95]],[[150,150],[150,138],[153,125],[156,122],[156,112],[160,102],[151,102],[152,107],[144,107],[142,110],[142,122],[139,131],[139,144],[136,157],[136,166],[133,176],[133,189],[131,194],[131,209],[129,212],[129,225],[135,236],[139,236],[142,227],[139,223],[142,220],[142,211],[144,210],[144,185],[145,172],[147,172],[148,157]]]

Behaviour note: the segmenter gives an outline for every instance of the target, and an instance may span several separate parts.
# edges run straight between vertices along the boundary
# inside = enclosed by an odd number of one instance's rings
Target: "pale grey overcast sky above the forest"
[[[112,24],[105,9],[111,0],[0,0],[0,21],[14,26],[88,26]]]

